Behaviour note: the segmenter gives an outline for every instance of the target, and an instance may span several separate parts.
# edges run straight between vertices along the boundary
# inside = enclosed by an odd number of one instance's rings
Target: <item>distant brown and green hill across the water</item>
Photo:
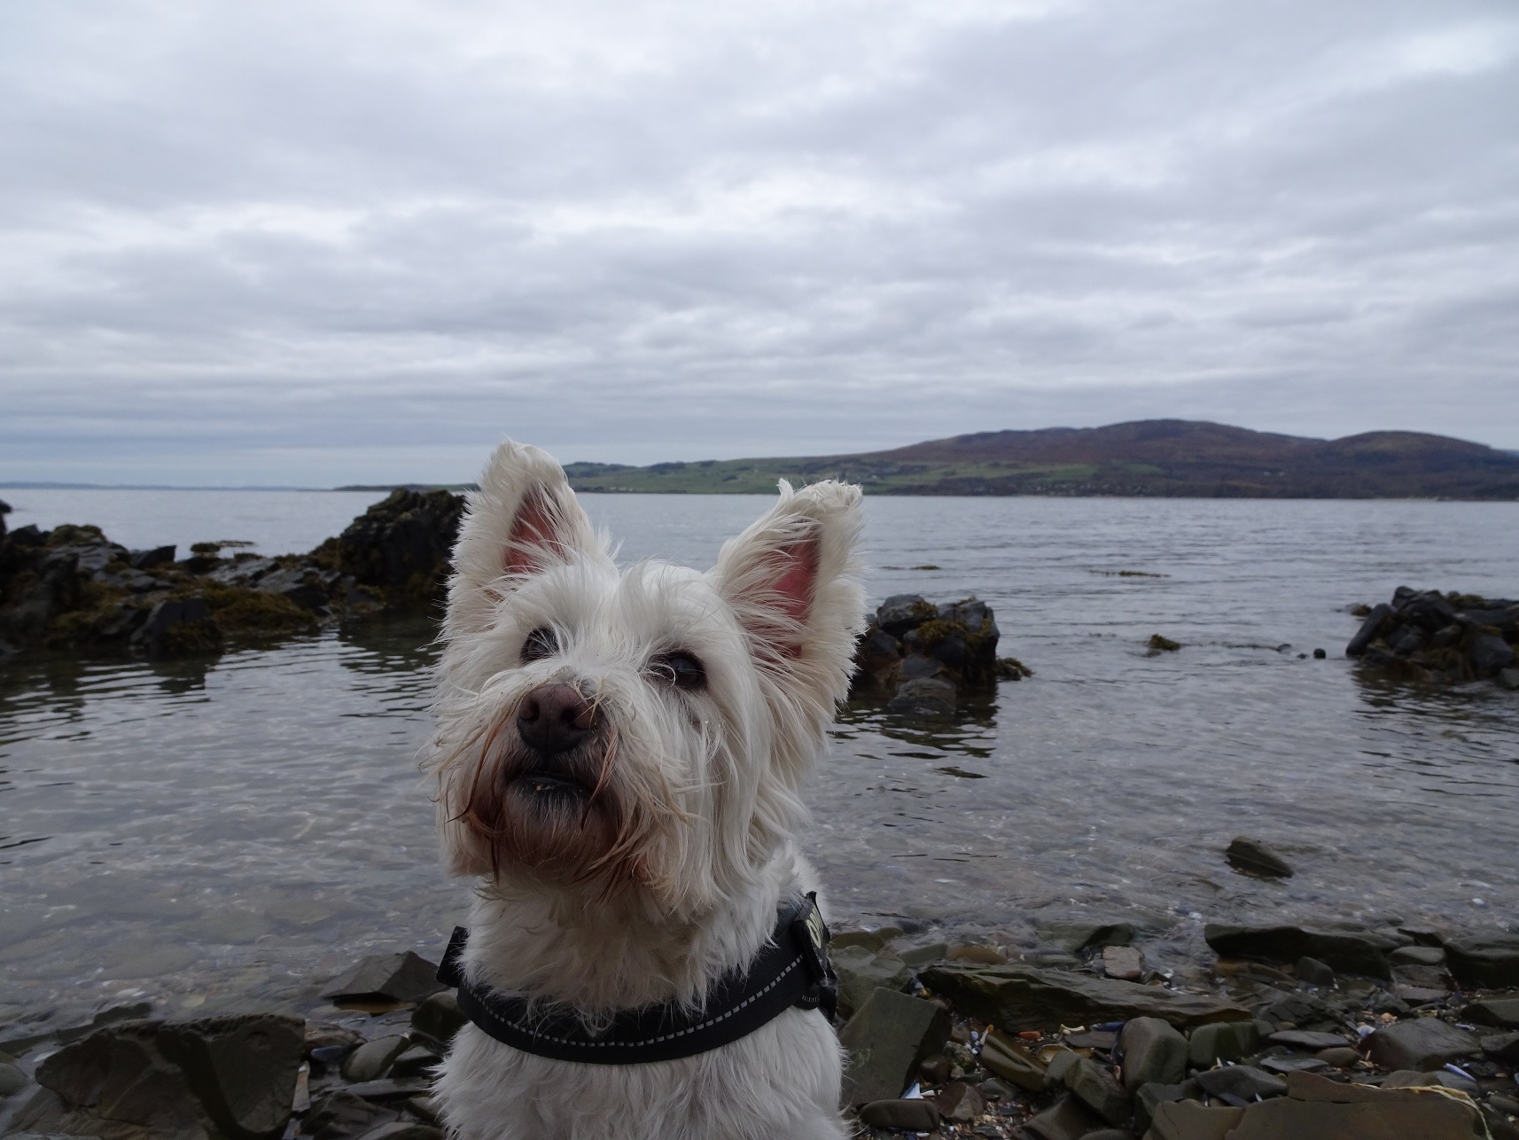
[[[977,432],[892,451],[690,464],[568,464],[577,491],[769,494],[848,479],[872,494],[1519,500],[1519,454],[1420,432],[1308,439],[1189,420]]]

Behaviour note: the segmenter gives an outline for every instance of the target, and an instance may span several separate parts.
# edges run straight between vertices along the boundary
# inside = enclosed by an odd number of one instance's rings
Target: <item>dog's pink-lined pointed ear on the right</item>
[[[781,480],[781,502],[729,540],[712,568],[772,696],[825,722],[849,695],[864,626],[861,523],[858,486],[826,480],[793,491]]]

